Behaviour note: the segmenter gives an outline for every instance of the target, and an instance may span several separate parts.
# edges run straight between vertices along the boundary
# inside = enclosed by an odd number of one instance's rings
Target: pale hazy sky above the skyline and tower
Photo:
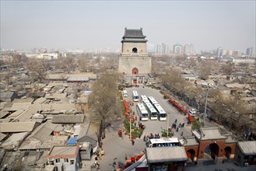
[[[149,44],[255,52],[255,2],[1,0],[1,47],[116,51],[124,27],[142,27]]]

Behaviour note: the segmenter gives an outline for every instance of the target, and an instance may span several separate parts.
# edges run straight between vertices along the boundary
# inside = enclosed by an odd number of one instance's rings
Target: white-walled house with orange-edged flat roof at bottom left
[[[55,170],[79,170],[82,161],[79,145],[54,145],[47,161]]]

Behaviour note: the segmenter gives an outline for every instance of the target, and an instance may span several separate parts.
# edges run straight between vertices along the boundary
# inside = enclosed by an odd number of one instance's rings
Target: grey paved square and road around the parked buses
[[[153,96],[158,103],[163,107],[163,110],[165,110],[169,114],[169,125],[174,123],[174,120],[177,119],[177,124],[179,123],[187,123],[187,118],[183,114],[179,113],[174,106],[170,105],[170,103],[167,102],[167,99],[163,99],[163,96],[160,94],[160,90],[152,89],[149,87],[142,88],[140,86],[139,88],[128,88],[128,97],[126,99],[132,100],[132,90],[137,90],[139,93],[139,96],[144,94],[146,96]],[[136,104],[136,103],[135,103]],[[132,106],[132,110],[135,111],[135,105]],[[138,122],[138,121],[137,121]],[[157,134],[161,133],[161,129],[167,129],[167,121],[159,121],[159,120],[148,120],[143,121],[143,124],[146,125],[146,129],[143,132],[144,134]],[[138,125],[138,123],[137,123]],[[209,126],[216,126],[214,122],[208,123]],[[112,163],[114,161],[114,158],[117,158],[117,165],[124,166],[125,159],[124,155],[127,154],[128,158],[134,155],[139,155],[142,151],[145,150],[146,145],[145,142],[141,139],[135,139],[135,145],[132,146],[131,141],[129,141],[129,138],[127,135],[123,136],[123,138],[120,138],[117,135],[118,130],[123,130],[124,125],[121,120],[114,120],[111,123],[111,127],[107,127],[106,130],[106,138],[103,139],[103,149],[105,152],[105,155],[102,156],[102,159],[100,159],[100,170],[113,170],[112,169]],[[191,136],[191,126],[185,124],[185,127],[182,127],[180,131],[176,132],[174,131],[174,136],[181,137],[181,132],[184,132],[184,136]],[[142,135],[142,136],[143,136]],[[92,159],[93,161],[94,159]],[[211,169],[214,171],[220,171],[222,169],[222,166],[211,166]],[[205,170],[206,166],[204,165],[198,165],[198,166],[188,166],[186,170]],[[223,169],[224,170],[224,169]],[[239,169],[226,169],[229,171],[239,170]]]

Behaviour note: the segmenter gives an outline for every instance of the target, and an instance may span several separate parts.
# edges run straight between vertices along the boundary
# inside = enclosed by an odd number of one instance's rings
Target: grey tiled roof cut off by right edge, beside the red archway
[[[256,155],[256,141],[240,141],[237,145],[244,155]]]

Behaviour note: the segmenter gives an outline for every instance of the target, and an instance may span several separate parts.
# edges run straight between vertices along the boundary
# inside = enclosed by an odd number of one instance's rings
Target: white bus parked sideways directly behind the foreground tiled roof
[[[146,141],[147,147],[171,147],[180,146],[181,143],[178,138],[153,138]]]

